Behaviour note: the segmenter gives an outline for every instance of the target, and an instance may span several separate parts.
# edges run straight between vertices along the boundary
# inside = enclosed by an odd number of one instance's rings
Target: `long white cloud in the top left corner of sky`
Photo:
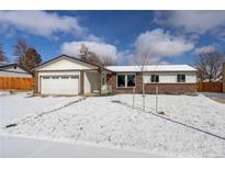
[[[0,11],[0,29],[46,37],[56,37],[56,33],[82,36],[87,32],[79,25],[77,18],[45,11]]]

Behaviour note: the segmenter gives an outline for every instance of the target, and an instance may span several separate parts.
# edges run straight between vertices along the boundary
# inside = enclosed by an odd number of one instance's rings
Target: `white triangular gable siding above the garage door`
[[[97,69],[95,66],[69,59],[60,58],[53,63],[46,64],[43,67],[37,68],[37,70],[87,70],[87,69]]]

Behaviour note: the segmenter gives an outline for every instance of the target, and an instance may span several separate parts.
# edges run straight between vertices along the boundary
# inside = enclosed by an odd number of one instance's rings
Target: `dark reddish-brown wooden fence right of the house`
[[[196,90],[199,92],[222,92],[223,82],[198,82]]]

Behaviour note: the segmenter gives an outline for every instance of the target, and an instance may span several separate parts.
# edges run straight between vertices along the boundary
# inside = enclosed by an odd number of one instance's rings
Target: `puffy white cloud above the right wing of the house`
[[[194,47],[192,42],[184,37],[173,36],[161,29],[142,33],[135,44],[136,56],[148,54],[153,63],[158,63],[162,57],[176,57]]]

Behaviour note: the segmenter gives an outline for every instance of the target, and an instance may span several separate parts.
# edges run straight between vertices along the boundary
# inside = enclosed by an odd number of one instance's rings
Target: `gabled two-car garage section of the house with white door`
[[[77,95],[99,90],[99,67],[61,55],[35,68],[35,92],[50,95]],[[98,86],[99,84],[99,86]]]

